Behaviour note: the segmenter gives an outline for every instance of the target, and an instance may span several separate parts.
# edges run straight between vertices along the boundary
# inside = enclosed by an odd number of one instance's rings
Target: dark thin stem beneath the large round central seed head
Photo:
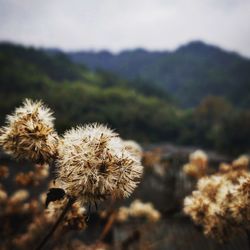
[[[57,229],[57,227],[59,226],[59,224],[61,223],[61,221],[63,220],[64,216],[67,214],[67,212],[69,211],[69,209],[71,208],[71,206],[73,205],[73,203],[75,202],[75,198],[70,197],[68,199],[68,202],[66,204],[66,206],[64,207],[61,215],[58,217],[57,221],[55,222],[55,224],[53,225],[53,227],[50,229],[50,231],[46,234],[46,236],[44,237],[44,239],[41,241],[41,243],[39,244],[39,246],[37,248],[35,248],[35,250],[41,250],[45,244],[49,241],[49,239],[52,237],[53,233],[55,232],[55,230]]]

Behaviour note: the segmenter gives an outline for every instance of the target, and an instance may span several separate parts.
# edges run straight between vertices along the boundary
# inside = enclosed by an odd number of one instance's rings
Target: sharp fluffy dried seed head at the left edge
[[[58,135],[53,116],[42,102],[26,99],[0,130],[0,145],[16,159],[49,162],[56,155]]]

